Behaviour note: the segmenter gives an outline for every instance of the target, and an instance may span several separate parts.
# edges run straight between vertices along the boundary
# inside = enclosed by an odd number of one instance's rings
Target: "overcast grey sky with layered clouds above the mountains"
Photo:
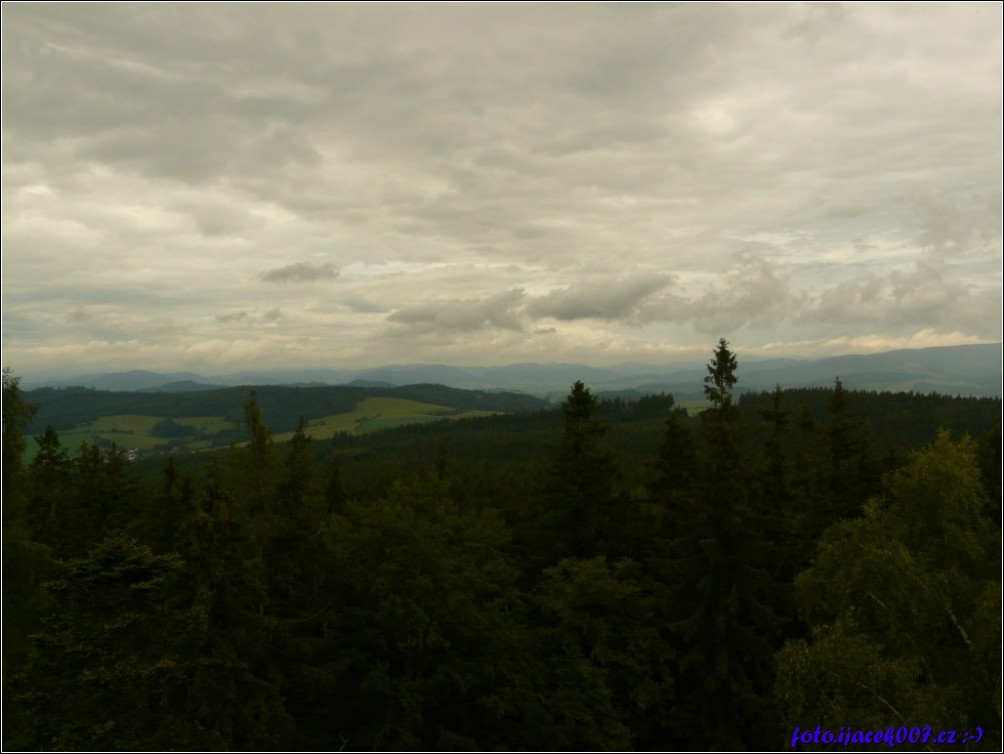
[[[2,6],[24,375],[1002,337],[1002,5]]]

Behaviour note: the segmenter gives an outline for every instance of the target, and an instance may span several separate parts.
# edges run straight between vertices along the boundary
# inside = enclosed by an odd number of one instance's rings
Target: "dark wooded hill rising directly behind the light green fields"
[[[242,424],[248,387],[223,388],[194,393],[118,393],[83,388],[41,388],[24,393],[38,407],[28,434],[47,426],[65,430],[116,415],[148,415],[164,419],[220,417]],[[290,388],[261,386],[254,389],[263,420],[276,432],[291,432],[299,418],[324,417],[352,411],[367,398],[393,398],[434,404],[458,412],[520,412],[550,407],[546,401],[517,393],[467,391],[442,385],[412,385],[404,388],[325,386]]]

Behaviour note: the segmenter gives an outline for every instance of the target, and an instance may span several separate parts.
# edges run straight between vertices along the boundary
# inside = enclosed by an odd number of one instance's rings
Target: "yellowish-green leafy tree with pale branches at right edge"
[[[778,655],[785,724],[981,726],[1000,750],[1000,531],[974,443],[942,434],[862,518],[830,528],[796,580],[810,641]],[[790,730],[790,728],[788,728]]]

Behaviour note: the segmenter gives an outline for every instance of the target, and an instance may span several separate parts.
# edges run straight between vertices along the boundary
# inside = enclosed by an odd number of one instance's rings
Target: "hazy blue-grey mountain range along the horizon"
[[[1001,343],[892,350],[816,359],[740,357],[738,389],[828,387],[839,378],[848,390],[1001,397]],[[82,374],[66,380],[25,384],[25,388],[82,387],[102,391],[188,393],[246,385],[397,387],[445,385],[465,390],[519,391],[559,398],[581,380],[594,393],[630,396],[672,393],[678,401],[700,398],[704,363],[655,365],[624,363],[589,366],[578,363],[515,363],[505,366],[400,364],[364,369],[290,369],[242,371],[205,376],[194,372],[134,370]]]

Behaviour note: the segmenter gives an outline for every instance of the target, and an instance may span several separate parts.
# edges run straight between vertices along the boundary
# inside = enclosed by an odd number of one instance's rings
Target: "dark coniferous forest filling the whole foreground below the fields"
[[[999,751],[1000,401],[741,378],[133,463],[5,371],[4,749]]]

